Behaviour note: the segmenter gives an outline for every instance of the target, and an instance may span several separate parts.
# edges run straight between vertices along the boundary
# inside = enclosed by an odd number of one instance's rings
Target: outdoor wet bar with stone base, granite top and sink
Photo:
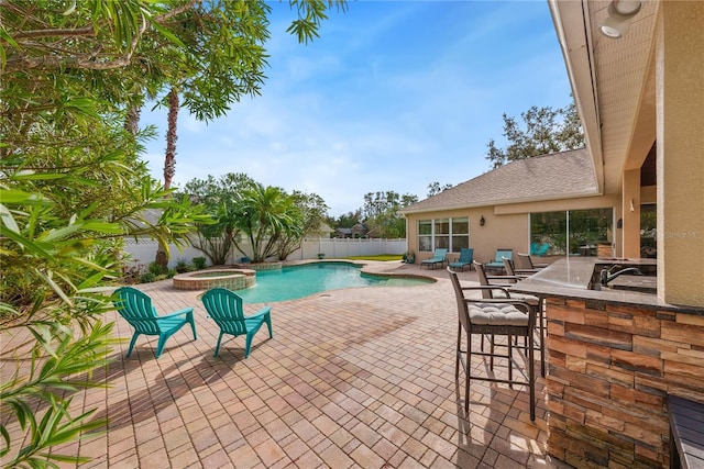
[[[553,457],[576,468],[669,466],[668,397],[704,402],[704,310],[664,303],[654,276],[654,259],[574,257],[514,288],[547,303]]]

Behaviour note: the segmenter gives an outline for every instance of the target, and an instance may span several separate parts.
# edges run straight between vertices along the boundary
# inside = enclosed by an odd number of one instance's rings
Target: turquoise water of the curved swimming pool
[[[237,290],[246,303],[268,303],[295,300],[327,290],[349,287],[398,286],[431,283],[431,279],[377,277],[364,275],[361,267],[348,263],[315,263],[284,267],[280,270],[256,272],[254,287]]]

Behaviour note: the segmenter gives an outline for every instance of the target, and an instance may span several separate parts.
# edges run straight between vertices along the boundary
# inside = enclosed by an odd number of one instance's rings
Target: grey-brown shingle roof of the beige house
[[[477,176],[402,210],[402,213],[501,205],[597,194],[584,148],[522,159]]]

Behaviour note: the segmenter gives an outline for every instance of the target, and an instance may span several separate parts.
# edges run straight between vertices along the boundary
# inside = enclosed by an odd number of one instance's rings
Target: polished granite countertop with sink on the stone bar
[[[636,305],[647,309],[674,311],[704,315],[704,308],[680,306],[666,303],[654,293],[644,293],[632,290],[618,290],[602,288],[591,290],[595,266],[605,268],[619,265],[624,267],[641,267],[642,270],[654,271],[654,259],[617,259],[600,257],[565,257],[559,259],[547,268],[534,273],[510,288],[519,293],[535,294],[539,297],[558,297],[579,300],[605,301],[615,304]],[[601,267],[598,268],[601,270]],[[624,276],[618,277],[622,279]],[[639,277],[628,279],[629,283],[637,283]],[[644,284],[652,284],[653,278],[642,277]]]

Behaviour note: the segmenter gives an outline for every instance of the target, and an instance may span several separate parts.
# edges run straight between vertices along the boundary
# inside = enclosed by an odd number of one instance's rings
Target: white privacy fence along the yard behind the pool
[[[157,247],[158,244],[153,239],[139,239],[139,242],[135,242],[134,238],[125,238],[124,241],[124,250],[136,264],[148,265],[153,263]],[[180,259],[191,263],[194,257],[208,257],[193,246],[186,246],[179,252],[176,246],[169,245],[169,249],[168,267],[174,267]],[[382,254],[400,255],[405,252],[406,239],[307,238],[304,239],[300,248],[292,253],[286,260],[317,259],[318,254],[324,254],[327,259],[332,259]],[[237,264],[243,256],[244,254],[233,249],[228,264]],[[210,260],[208,260],[208,264],[210,264]]]

